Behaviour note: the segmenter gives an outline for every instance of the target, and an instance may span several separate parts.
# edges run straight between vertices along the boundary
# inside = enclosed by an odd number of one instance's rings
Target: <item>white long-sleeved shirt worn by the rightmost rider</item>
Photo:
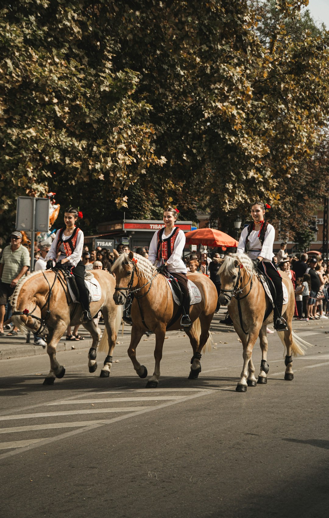
[[[247,255],[250,259],[256,259],[258,256],[263,257],[264,262],[272,262],[273,243],[275,238],[275,229],[270,223],[267,225],[263,246],[258,238],[259,230],[252,230],[250,232],[248,241]],[[242,254],[245,251],[246,239],[248,236],[248,227],[246,226],[240,236],[239,244],[236,250],[237,254]]]

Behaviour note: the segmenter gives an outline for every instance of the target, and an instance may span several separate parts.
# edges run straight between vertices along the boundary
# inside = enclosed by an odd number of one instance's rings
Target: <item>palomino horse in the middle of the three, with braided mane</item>
[[[140,378],[146,378],[147,370],[136,359],[136,347],[146,329],[155,333],[155,370],[146,384],[148,389],[155,389],[159,383],[166,330],[181,328],[180,317],[175,322],[171,322],[179,308],[173,301],[167,280],[163,275],[159,275],[157,269],[141,255],[134,255],[132,252],[129,255],[117,254],[112,271],[115,272],[116,277],[113,296],[115,304],[123,304],[128,292],[134,295],[128,355]],[[216,310],[217,291],[215,284],[205,275],[190,274],[188,277],[198,286],[202,296],[200,303],[191,306],[190,319],[193,325],[185,331],[193,349],[189,379],[197,379],[201,371],[201,351],[209,339],[209,328]]]

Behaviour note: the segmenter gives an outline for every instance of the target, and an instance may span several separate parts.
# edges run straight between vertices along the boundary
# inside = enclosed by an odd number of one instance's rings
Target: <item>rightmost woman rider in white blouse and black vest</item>
[[[270,205],[266,204],[270,209]],[[274,256],[273,243],[275,229],[264,221],[265,206],[262,202],[256,202],[251,207],[252,222],[241,232],[236,253],[246,253],[253,260],[257,269],[272,280],[276,299],[274,301],[274,328],[277,331],[287,329],[287,322],[281,317],[283,305],[282,279],[272,263]]]

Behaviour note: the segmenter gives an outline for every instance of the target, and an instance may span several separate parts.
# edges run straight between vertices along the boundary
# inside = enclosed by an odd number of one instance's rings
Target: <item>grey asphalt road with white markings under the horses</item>
[[[83,349],[58,352],[66,375],[51,387],[46,355],[1,361],[0,516],[327,516],[329,321],[294,328],[314,346],[295,379],[269,335],[268,383],[245,394],[241,343],[218,317],[199,380],[187,337],[168,334],[157,390],[134,374],[127,336],[108,379]],[[138,348],[149,373],[153,349],[152,336]]]

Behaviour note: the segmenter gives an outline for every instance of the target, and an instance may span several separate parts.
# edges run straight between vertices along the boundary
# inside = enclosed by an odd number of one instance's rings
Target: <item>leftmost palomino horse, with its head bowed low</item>
[[[107,378],[110,376],[113,350],[122,319],[122,308],[117,308],[113,301],[114,277],[103,270],[94,270],[93,274],[101,286],[102,293],[100,300],[92,302],[90,306],[92,315],[96,315],[98,311],[102,312],[107,329],[109,352],[100,372],[101,378]],[[81,323],[82,307],[80,304],[71,304],[70,300],[62,272],[53,270],[36,271],[28,275],[17,286],[11,298],[13,308],[11,320],[14,325],[23,332],[29,330],[43,336],[47,334],[50,372],[43,382],[44,385],[52,385],[55,377],[63,378],[65,368],[57,362],[56,346],[68,325],[74,326]],[[82,325],[93,338],[92,347],[88,353],[88,367],[89,372],[95,372],[100,330],[94,320]]]

